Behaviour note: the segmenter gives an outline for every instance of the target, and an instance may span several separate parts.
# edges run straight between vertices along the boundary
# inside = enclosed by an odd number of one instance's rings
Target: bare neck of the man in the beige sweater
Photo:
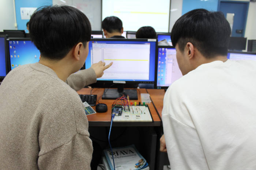
[[[72,68],[68,66],[67,63],[69,62],[67,62],[66,58],[61,60],[50,60],[45,57],[41,57],[38,63],[51,68],[63,82],[67,80],[69,75],[74,73]]]

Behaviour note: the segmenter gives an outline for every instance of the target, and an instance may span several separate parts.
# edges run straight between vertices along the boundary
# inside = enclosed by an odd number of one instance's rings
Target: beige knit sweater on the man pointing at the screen
[[[75,90],[94,82],[93,69],[67,79]],[[5,77],[0,86],[0,169],[90,169],[88,120],[67,83],[39,63],[17,67]]]

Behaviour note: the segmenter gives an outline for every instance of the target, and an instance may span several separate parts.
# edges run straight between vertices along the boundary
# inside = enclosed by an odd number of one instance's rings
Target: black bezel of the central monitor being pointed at
[[[150,40],[150,41],[148,41]],[[155,40],[155,41],[153,41]],[[156,59],[157,59],[157,54],[158,54],[158,51],[157,51],[157,39],[114,39],[114,38],[104,38],[104,39],[94,39],[92,38],[90,41],[144,41],[144,42],[155,42],[155,67],[157,66],[157,62],[156,62]],[[85,63],[84,63],[84,68],[87,69],[85,67]],[[155,76],[155,74],[154,74]],[[114,80],[116,81],[116,80]],[[121,80],[122,81],[122,80]],[[116,84],[113,82],[113,80],[97,80],[97,82],[102,82],[102,83],[105,83],[105,84]],[[125,84],[139,84],[139,83],[145,83],[145,84],[155,84],[155,77],[154,77],[154,81],[122,81],[122,82],[125,82]]]

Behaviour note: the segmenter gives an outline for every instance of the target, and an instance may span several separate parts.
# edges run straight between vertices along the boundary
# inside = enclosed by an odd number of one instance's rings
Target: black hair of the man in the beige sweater
[[[74,7],[45,6],[31,16],[29,33],[42,56],[60,60],[79,42],[86,47],[91,39],[91,24],[84,13]]]

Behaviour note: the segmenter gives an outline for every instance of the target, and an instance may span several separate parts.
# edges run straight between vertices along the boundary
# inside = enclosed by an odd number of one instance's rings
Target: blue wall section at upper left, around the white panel
[[[10,0],[8,0],[10,1]],[[22,20],[20,15],[21,7],[34,7],[38,8],[44,5],[52,5],[52,0],[15,0],[15,9],[16,9],[16,19],[18,24],[18,29],[26,30],[26,23],[29,20]]]

